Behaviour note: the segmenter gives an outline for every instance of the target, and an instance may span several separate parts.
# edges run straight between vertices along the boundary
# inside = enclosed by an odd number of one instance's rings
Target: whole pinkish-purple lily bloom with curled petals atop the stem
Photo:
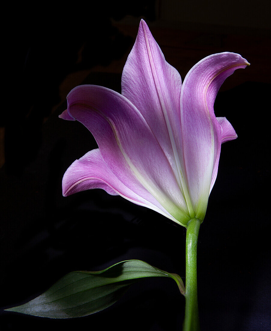
[[[122,74],[122,93],[75,87],[59,116],[78,120],[98,149],[65,172],[63,196],[101,188],[186,227],[203,221],[217,175],[221,143],[237,138],[213,104],[223,81],[249,63],[218,53],[198,62],[183,84],[141,20]]]

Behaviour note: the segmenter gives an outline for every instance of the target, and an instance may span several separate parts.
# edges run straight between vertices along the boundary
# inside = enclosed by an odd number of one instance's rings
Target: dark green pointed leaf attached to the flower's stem
[[[113,305],[139,278],[171,277],[184,294],[180,276],[140,260],[116,263],[101,271],[74,271],[28,303],[6,309],[23,314],[71,318],[93,314]]]

